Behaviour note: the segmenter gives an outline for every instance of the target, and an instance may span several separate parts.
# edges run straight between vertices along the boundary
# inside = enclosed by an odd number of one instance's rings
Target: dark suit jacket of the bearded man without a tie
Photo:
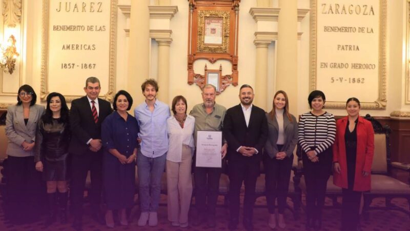
[[[229,108],[223,121],[223,135],[228,142],[230,161],[260,161],[262,148],[268,138],[268,122],[265,111],[253,105],[247,127],[241,105]],[[244,157],[236,151],[240,146],[254,147],[258,150],[258,154]]]

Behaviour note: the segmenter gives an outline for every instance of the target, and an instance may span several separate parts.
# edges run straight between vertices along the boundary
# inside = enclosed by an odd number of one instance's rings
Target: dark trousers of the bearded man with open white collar
[[[231,220],[239,220],[239,193],[243,182],[245,185],[243,218],[252,221],[253,207],[255,204],[256,179],[260,174],[259,167],[260,161],[229,161],[229,210]]]

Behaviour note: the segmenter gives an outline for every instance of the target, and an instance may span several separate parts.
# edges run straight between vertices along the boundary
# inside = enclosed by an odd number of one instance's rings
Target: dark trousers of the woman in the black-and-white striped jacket
[[[306,183],[306,215],[308,219],[321,219],[327,180],[332,171],[333,151],[327,148],[318,155],[319,161],[312,162],[302,153],[304,180]]]

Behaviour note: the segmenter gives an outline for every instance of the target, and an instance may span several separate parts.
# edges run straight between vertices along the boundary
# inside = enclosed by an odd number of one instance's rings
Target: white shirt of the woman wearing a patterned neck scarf
[[[167,120],[168,130],[168,153],[167,160],[172,162],[181,162],[182,145],[191,147],[192,155],[194,153],[194,128],[195,118],[192,115],[187,115],[187,119],[183,124],[183,128],[179,125],[175,117],[170,117]]]

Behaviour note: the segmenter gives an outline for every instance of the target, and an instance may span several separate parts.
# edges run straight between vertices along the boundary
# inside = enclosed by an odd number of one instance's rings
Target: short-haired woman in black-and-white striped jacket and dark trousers
[[[325,96],[315,90],[309,94],[312,109],[301,115],[298,142],[302,149],[306,183],[306,228],[320,229],[326,184],[332,172],[332,145],[336,136],[333,114],[323,110]]]

